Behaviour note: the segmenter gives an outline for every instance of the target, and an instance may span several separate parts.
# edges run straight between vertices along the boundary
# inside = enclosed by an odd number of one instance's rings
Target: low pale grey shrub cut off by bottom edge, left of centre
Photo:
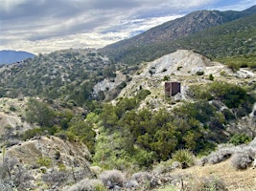
[[[68,191],[106,191],[101,180],[84,179],[72,185]]]

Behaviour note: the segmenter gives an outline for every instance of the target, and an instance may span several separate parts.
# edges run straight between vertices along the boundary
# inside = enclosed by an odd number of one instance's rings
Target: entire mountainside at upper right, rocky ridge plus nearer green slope
[[[242,12],[196,11],[101,51],[127,64],[151,61],[179,49],[196,50],[211,58],[255,53],[253,14],[255,7]]]

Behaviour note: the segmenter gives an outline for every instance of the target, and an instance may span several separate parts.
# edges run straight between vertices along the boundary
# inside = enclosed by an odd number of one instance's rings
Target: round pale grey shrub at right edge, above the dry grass
[[[254,155],[250,150],[239,152],[232,156],[231,164],[237,170],[245,169],[251,164],[253,157]]]

